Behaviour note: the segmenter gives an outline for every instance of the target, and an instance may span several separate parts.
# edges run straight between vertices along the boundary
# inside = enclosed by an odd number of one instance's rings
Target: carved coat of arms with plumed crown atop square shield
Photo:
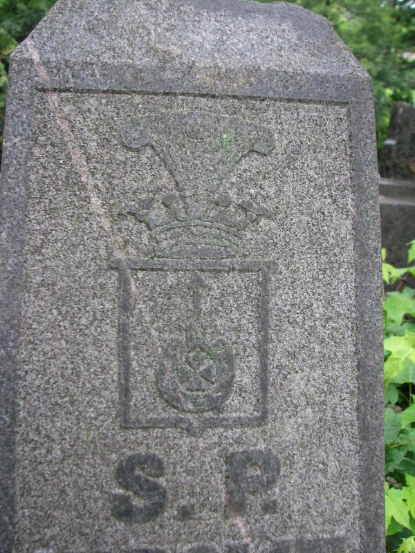
[[[131,118],[122,139],[129,149],[151,147],[176,186],[129,208],[147,225],[151,256],[113,259],[122,424],[192,433],[260,424],[270,268],[240,250],[243,232],[267,212],[232,200],[225,179],[251,151],[270,153],[273,135],[239,118],[172,113]]]

